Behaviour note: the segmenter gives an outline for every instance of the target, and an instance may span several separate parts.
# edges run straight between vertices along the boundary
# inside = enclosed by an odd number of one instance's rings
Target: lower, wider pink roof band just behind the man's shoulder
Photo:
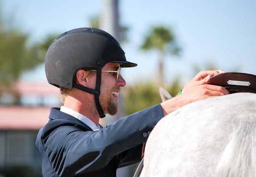
[[[0,106],[0,130],[39,130],[49,112],[50,107]]]

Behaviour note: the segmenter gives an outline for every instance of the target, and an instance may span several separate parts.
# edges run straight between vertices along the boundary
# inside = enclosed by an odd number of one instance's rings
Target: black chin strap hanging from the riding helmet
[[[76,89],[82,90],[84,92],[87,92],[89,94],[94,94],[95,104],[96,104],[96,108],[98,110],[99,117],[104,118],[104,117],[106,117],[106,115],[105,115],[104,111],[102,110],[102,107],[100,106],[100,103],[99,103],[100,84],[101,84],[101,69],[97,69],[95,89],[85,87],[78,83],[73,83],[73,87]]]

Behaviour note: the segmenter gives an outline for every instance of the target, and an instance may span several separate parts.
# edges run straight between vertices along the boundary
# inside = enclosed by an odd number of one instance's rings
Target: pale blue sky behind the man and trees
[[[0,0],[4,17],[31,41],[49,34],[89,26],[89,18],[100,14],[102,0]],[[124,69],[128,84],[156,78],[157,53],[138,50],[152,26],[171,27],[182,47],[179,58],[167,57],[166,83],[176,77],[187,82],[194,65],[206,70],[209,63],[224,71],[256,75],[255,0],[120,0],[120,23],[130,28],[129,43],[122,44],[127,60],[138,63]],[[141,77],[139,77],[141,76]],[[45,80],[43,65],[26,72],[22,79]]]

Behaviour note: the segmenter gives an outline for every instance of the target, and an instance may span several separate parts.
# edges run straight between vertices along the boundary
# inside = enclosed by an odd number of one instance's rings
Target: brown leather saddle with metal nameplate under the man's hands
[[[256,75],[241,72],[224,72],[212,76],[206,84],[219,85],[230,94],[237,92],[256,93]]]

